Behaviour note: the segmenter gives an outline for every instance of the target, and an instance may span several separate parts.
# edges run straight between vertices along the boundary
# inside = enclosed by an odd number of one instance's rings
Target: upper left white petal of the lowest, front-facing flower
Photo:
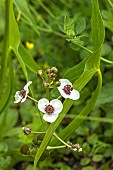
[[[38,101],[38,109],[43,113],[46,113],[45,111],[46,105],[49,105],[49,101],[47,99],[43,98]]]

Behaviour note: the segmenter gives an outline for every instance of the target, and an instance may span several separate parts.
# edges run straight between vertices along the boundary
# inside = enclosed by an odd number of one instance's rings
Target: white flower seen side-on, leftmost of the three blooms
[[[15,101],[14,103],[19,103],[19,102],[25,102],[27,96],[28,96],[28,93],[29,93],[29,85],[32,83],[32,81],[29,81],[22,90],[20,91],[17,91],[15,93]]]

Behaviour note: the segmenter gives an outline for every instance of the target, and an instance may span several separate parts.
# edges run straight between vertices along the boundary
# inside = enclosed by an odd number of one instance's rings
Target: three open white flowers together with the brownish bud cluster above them
[[[56,74],[57,74],[57,69],[55,67],[46,70],[46,75],[48,76],[47,80],[43,77],[42,70],[39,70],[37,73],[37,75],[42,79],[46,89],[53,88],[56,85],[61,96],[64,97],[65,99],[67,98],[72,100],[79,99],[80,93],[73,88],[72,83],[69,80],[60,79],[59,81],[54,83]],[[25,102],[27,97],[33,99],[30,96],[28,96],[29,93],[28,87],[31,83],[32,81],[29,81],[22,90],[16,92],[14,103]],[[36,101],[35,99],[33,100]],[[38,109],[44,113],[43,119],[50,123],[53,123],[57,119],[59,113],[63,109],[63,104],[58,99],[53,99],[49,101],[49,99],[42,98],[37,102],[38,102]]]

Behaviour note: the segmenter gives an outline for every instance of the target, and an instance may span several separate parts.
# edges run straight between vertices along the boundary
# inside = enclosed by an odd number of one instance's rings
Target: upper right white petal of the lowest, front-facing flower
[[[63,104],[58,99],[51,100],[50,105],[54,107],[54,114],[59,114],[63,109]]]

